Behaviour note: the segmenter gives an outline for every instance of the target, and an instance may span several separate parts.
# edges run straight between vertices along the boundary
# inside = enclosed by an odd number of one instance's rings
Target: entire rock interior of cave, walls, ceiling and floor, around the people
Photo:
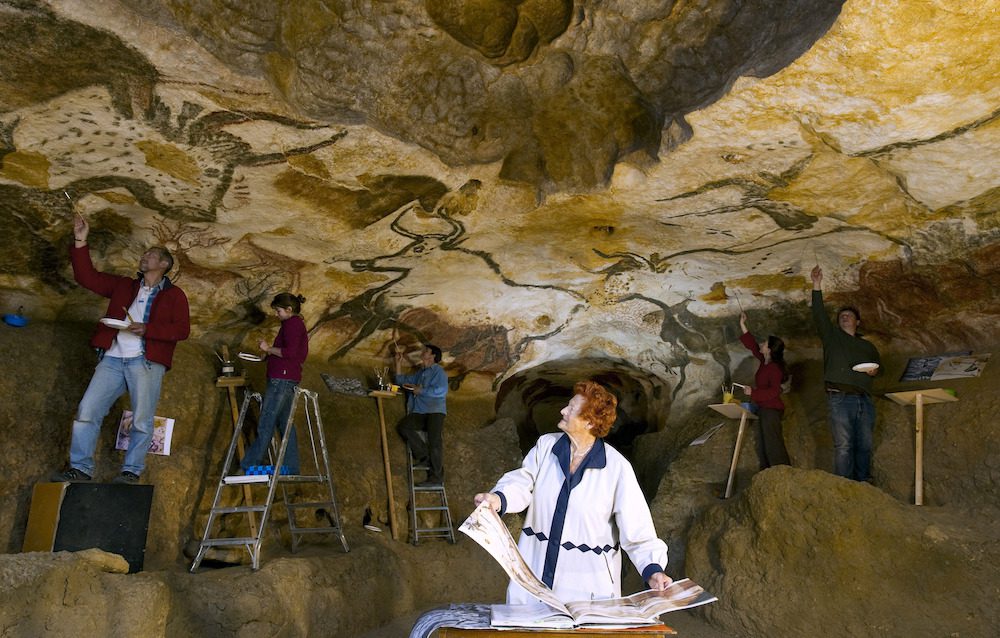
[[[897,381],[911,356],[1000,344],[997,0],[0,0],[0,33],[0,311],[29,320],[0,325],[3,551],[21,547],[31,485],[66,460],[106,309],[73,280],[73,216],[103,270],[169,248],[193,327],[158,410],[175,451],[143,477],[148,573],[0,557],[5,632],[126,635],[116,619],[148,616],[142,635],[355,638],[502,597],[475,548],[361,536],[366,509],[384,529],[390,511],[374,406],[320,375],[370,385],[422,342],[450,379],[456,521],[593,377],[621,396],[609,440],[652,501],[668,571],[720,596],[703,613],[729,635],[997,626],[996,362],[929,410],[929,507],[914,510],[910,407],[878,403],[874,486],[821,472],[808,311],[820,265],[831,312],[859,307],[883,355],[880,395],[917,387]],[[360,549],[293,557],[278,535],[256,574],[190,576],[232,428],[217,353],[273,338],[285,290],[307,300],[303,385],[321,391]],[[748,442],[720,503],[734,424],[689,443],[718,423],[720,384],[752,378],[741,311],[788,345],[795,469],[758,473]],[[240,366],[263,387],[262,367]],[[402,413],[387,406],[390,428]],[[288,581],[306,596],[275,597]],[[768,606],[776,591],[802,597]]]

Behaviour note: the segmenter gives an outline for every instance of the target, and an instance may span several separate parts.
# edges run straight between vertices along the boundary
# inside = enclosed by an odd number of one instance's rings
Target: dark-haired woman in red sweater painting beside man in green
[[[754,386],[750,388],[750,401],[757,405],[757,458],[760,469],[772,465],[790,465],[785,439],[781,434],[781,415],[785,404],[781,401],[781,384],[788,379],[785,367],[785,342],[771,335],[760,345],[747,330],[747,314],[740,313],[740,343],[760,361]]]

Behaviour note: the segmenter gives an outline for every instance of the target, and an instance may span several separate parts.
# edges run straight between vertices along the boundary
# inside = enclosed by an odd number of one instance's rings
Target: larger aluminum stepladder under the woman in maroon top
[[[240,408],[239,419],[233,431],[233,438],[229,443],[229,450],[226,453],[226,461],[223,465],[222,476],[219,477],[219,484],[215,489],[215,498],[212,501],[212,508],[209,511],[208,520],[205,523],[205,533],[202,535],[201,545],[198,554],[191,564],[191,571],[198,569],[201,561],[205,558],[205,553],[212,547],[237,547],[243,546],[250,554],[251,566],[254,570],[260,568],[260,551],[264,540],[264,532],[267,528],[267,521],[271,515],[271,508],[274,498],[281,486],[282,500],[288,513],[288,526],[291,532],[292,551],[298,550],[298,545],[302,536],[308,534],[333,534],[340,538],[344,551],[350,551],[347,546],[347,539],[344,537],[343,525],[340,519],[340,511],[337,507],[336,488],[333,485],[330,471],[330,455],[326,447],[326,436],[323,433],[323,422],[319,415],[319,402],[315,392],[300,387],[295,388],[295,396],[292,398],[292,409],[288,414],[288,421],[285,424],[285,436],[281,437],[281,444],[276,446],[272,439],[268,454],[275,468],[280,468],[285,459],[285,448],[288,445],[290,433],[295,428],[295,417],[299,411],[299,404],[302,405],[305,434],[308,434],[311,455],[302,458],[303,465],[308,467],[310,457],[312,474],[296,475],[260,475],[260,476],[227,476],[230,468],[238,467],[233,461],[236,455],[237,441],[243,433],[243,424],[246,415],[250,410],[252,402],[258,405],[261,401],[260,393],[246,392],[243,396],[243,405]],[[317,449],[318,446],[318,449]],[[289,484],[318,484],[321,492],[326,492],[328,500],[296,501],[288,492]],[[259,486],[267,488],[267,497],[262,504],[256,505],[235,505],[222,506],[220,502],[223,495],[228,491],[242,488],[245,485]],[[320,499],[323,495],[320,496]],[[296,512],[299,510],[313,509],[316,513],[325,517],[329,525],[319,527],[300,527],[296,522]],[[246,516],[246,526],[249,535],[244,537],[221,537],[212,536],[213,524],[225,514],[243,514]]]

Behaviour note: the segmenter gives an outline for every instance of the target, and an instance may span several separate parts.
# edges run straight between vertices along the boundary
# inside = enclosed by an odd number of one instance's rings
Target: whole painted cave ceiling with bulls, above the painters
[[[996,343],[1000,2],[0,0],[0,302],[177,258],[194,336],[432,340],[458,382],[727,366],[809,270],[883,347]],[[932,329],[929,327],[933,326]],[[707,366],[707,367],[706,367]]]

